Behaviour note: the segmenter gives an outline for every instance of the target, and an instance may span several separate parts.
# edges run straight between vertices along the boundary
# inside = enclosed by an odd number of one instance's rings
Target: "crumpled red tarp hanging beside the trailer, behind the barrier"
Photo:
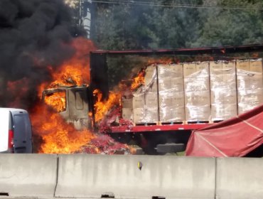
[[[245,156],[263,144],[263,105],[224,122],[193,131],[186,156]]]

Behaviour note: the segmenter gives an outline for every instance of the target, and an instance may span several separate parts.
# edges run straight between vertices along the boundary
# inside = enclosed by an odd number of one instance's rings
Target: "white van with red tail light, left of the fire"
[[[0,108],[0,153],[32,153],[32,130],[28,112]]]

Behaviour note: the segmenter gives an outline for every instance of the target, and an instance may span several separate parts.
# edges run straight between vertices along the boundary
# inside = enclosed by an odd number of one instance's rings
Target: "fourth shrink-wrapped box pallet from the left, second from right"
[[[237,115],[235,61],[210,62],[210,95],[213,121]]]

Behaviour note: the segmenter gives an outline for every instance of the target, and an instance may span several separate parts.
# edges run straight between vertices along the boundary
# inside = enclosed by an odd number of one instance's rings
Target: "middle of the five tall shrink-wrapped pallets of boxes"
[[[210,120],[209,65],[184,63],[186,121],[203,122]]]

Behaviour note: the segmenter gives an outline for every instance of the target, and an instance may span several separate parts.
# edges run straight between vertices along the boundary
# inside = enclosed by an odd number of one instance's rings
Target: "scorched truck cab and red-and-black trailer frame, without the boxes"
[[[102,92],[102,99],[107,99],[109,97],[108,56],[205,55],[207,57],[220,57],[220,60],[229,61],[232,60],[232,58],[228,57],[230,54],[236,55],[239,53],[240,55],[240,53],[260,53],[262,50],[263,45],[223,46],[216,48],[180,48],[173,50],[96,50],[90,53],[89,86],[83,85],[80,87],[74,85],[72,87],[57,87],[55,89],[45,90],[43,92],[43,99],[45,99],[45,96],[53,95],[55,92],[64,92],[66,105],[64,109],[60,111],[60,114],[69,123],[73,123],[76,129],[88,127],[93,131],[96,131],[94,107],[95,97],[93,92],[94,90],[100,90]],[[156,71],[159,71],[158,68]],[[208,72],[210,72],[210,70]],[[209,86],[210,84],[211,82],[209,82]],[[157,85],[159,85],[159,82],[157,82]],[[157,92],[158,90],[159,87],[157,86]],[[159,103],[159,100],[157,101]],[[211,106],[211,104],[208,104],[208,106]],[[160,104],[158,104],[160,112],[159,107]],[[103,133],[109,134],[109,136],[112,136],[112,138],[122,143],[139,146],[146,154],[176,153],[186,149],[186,144],[192,130],[202,129],[203,127],[208,127],[220,121],[220,119],[215,119],[212,122],[209,119],[200,121],[189,121],[186,119],[186,121],[180,122],[162,122],[159,115],[154,122],[147,121],[136,123],[130,121],[122,124],[116,124],[116,122],[114,122],[114,124],[109,125],[107,131],[104,129]]]

